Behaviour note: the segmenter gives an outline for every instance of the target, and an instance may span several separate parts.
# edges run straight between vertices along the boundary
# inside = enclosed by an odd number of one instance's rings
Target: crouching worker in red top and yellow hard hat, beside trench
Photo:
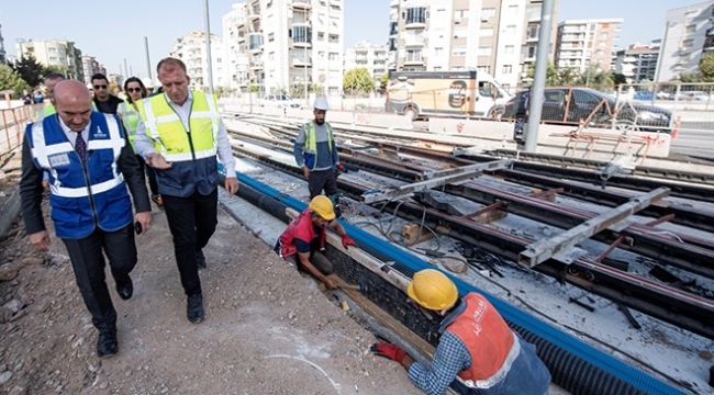
[[[327,289],[334,290],[337,283],[327,278],[333,272],[332,262],[321,252],[327,242],[327,227],[342,237],[345,249],[356,245],[355,240],[347,236],[345,228],[335,221],[335,210],[330,198],[317,195],[312,199],[305,211],[290,222],[280,235],[275,251],[298,269],[306,270]]]

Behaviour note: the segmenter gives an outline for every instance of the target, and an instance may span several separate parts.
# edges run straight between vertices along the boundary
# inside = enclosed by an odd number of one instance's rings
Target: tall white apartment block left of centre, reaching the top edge
[[[264,94],[303,95],[305,87],[321,94],[342,92],[342,0],[249,0],[234,7],[244,7],[245,18],[232,22],[235,33],[226,46],[247,55],[250,89]]]

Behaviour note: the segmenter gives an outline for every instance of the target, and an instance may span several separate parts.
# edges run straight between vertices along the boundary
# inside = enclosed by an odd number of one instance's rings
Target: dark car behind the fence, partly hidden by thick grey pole
[[[504,119],[523,116],[528,106],[529,91],[521,91],[505,103]],[[599,106],[600,103],[603,103]],[[595,111],[596,109],[596,111]],[[610,127],[613,115],[615,125],[623,129],[643,129],[669,133],[672,113],[669,110],[638,102],[617,102],[615,98],[589,88],[546,88],[544,91],[542,121],[578,125],[591,113],[591,126]]]

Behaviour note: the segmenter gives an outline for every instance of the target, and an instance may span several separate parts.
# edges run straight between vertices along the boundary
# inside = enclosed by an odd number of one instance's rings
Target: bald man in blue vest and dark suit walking
[[[150,203],[136,156],[116,115],[91,110],[87,88],[78,81],[55,87],[57,113],[27,126],[22,147],[22,214],[30,242],[47,250],[49,234],[42,214],[42,173],[49,173],[49,205],[55,233],[71,260],[77,285],[99,330],[97,354],[118,351],[116,311],[107,289],[104,253],[116,293],[134,290],[134,232],[152,224]],[[89,183],[89,184],[88,184]],[[136,214],[132,213],[132,193]]]

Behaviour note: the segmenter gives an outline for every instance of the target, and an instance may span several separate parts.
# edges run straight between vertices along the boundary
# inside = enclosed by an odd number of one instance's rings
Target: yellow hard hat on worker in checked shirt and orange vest
[[[434,269],[424,269],[412,279],[406,289],[409,297],[422,307],[443,311],[454,306],[459,297],[456,284],[444,273]]]

